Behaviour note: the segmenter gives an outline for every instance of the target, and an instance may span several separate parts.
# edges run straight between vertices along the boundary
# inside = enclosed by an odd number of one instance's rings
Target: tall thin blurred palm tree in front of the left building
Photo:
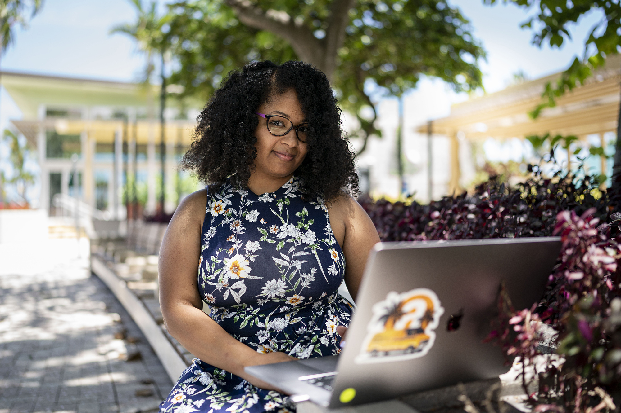
[[[1,0],[0,0],[1,1]],[[142,0],[130,0],[136,7],[138,19],[132,24],[122,24],[112,28],[111,33],[124,33],[134,38],[138,43],[138,48],[147,55],[147,66],[145,68],[145,84],[148,87],[153,69],[155,55],[160,55],[161,59],[161,91],[160,91],[160,162],[161,162],[161,194],[159,213],[164,213],[165,200],[165,164],[166,164],[166,143],[164,136],[164,109],[166,107],[166,76],[165,76],[165,54],[170,48],[169,36],[163,31],[168,22],[170,14],[158,16],[157,3],[152,1],[148,7],[142,4]],[[148,87],[150,93],[150,87]]]

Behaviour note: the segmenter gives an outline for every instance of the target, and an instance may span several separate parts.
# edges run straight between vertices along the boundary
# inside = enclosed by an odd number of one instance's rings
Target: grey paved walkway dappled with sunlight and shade
[[[0,244],[0,413],[156,412],[173,386],[81,250]]]

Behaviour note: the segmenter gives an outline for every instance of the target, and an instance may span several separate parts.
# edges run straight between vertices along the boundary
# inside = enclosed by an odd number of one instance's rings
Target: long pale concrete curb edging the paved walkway
[[[91,255],[91,271],[110,288],[127,310],[127,313],[132,316],[132,319],[134,319],[142,333],[147,337],[153,351],[160,358],[166,373],[168,373],[173,383],[176,383],[181,373],[188,368],[188,365],[186,365],[186,362],[181,358],[170,340],[168,340],[161,327],[155,322],[142,301],[127,287],[125,280],[117,277],[114,271],[109,269],[106,263],[96,255]]]

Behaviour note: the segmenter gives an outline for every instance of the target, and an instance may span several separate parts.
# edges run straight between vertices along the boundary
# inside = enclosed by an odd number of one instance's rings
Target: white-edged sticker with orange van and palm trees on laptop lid
[[[391,291],[373,306],[373,316],[356,363],[396,362],[423,357],[433,347],[444,308],[428,288]]]

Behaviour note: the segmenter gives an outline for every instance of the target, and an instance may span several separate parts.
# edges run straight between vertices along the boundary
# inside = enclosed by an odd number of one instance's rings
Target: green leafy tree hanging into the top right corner
[[[495,4],[496,0],[483,0],[485,4]],[[546,100],[538,105],[530,115],[537,118],[546,107],[554,107],[556,98],[571,91],[578,84],[584,84],[595,69],[604,65],[606,58],[621,51],[621,3],[619,0],[503,0],[523,9],[535,8],[535,16],[522,24],[522,28],[533,30],[532,43],[542,47],[560,48],[565,40],[571,40],[571,25],[578,23],[587,12],[596,12],[602,19],[592,27],[584,41],[584,53],[581,58],[574,58],[569,68],[561,74],[556,83],[548,82],[542,97]],[[615,145],[612,185],[609,192],[611,199],[621,198],[621,107],[617,125],[617,143]]]

